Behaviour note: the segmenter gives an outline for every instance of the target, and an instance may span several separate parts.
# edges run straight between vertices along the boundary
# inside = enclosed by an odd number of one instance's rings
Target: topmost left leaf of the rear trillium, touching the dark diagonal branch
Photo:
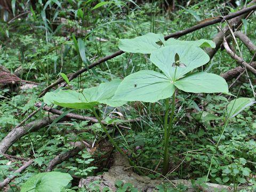
[[[133,39],[119,39],[118,47],[122,51],[131,53],[152,53],[161,45],[156,42],[165,42],[163,34],[148,33]]]

